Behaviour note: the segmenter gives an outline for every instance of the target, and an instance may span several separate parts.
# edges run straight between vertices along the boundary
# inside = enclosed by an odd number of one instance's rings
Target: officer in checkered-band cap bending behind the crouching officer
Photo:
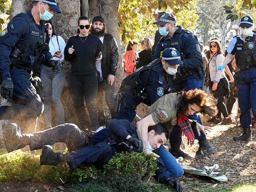
[[[181,55],[182,64],[179,66],[179,72],[173,79],[173,92],[202,89],[205,80],[205,72],[197,37],[181,26],[175,26],[176,18],[171,13],[165,13],[157,22],[154,22],[154,24],[158,25],[159,33],[163,35],[163,37],[158,43],[152,59],[158,58],[160,52],[168,47],[176,48]],[[198,114],[190,115],[189,118],[202,124]],[[172,146],[171,153],[175,156],[192,158],[180,149],[180,135],[180,129],[176,127],[170,136]],[[201,134],[200,137],[197,135],[196,138],[198,138],[200,149],[200,154],[197,154],[198,157],[213,154],[213,150],[203,134]]]

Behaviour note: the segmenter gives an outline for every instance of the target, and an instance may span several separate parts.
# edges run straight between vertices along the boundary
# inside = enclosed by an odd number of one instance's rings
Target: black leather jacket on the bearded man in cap
[[[107,78],[109,74],[115,75],[118,63],[118,48],[115,38],[105,33],[102,46],[101,69],[102,77]]]

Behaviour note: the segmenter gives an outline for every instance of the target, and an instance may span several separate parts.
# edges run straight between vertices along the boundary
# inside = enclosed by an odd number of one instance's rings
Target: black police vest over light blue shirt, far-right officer
[[[240,70],[246,70],[250,67],[256,67],[256,34],[253,37],[246,37],[245,41],[236,37],[237,42],[235,44],[236,49],[236,65]]]

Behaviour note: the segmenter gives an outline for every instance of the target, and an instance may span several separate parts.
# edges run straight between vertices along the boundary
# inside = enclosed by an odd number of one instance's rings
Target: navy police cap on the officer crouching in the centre
[[[182,65],[180,52],[175,48],[167,48],[161,53],[161,59],[165,60],[169,65]]]

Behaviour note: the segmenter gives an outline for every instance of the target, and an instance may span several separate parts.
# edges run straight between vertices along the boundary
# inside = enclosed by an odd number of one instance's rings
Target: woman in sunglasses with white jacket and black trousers
[[[221,70],[217,70],[217,67],[223,63],[224,54],[221,48],[221,43],[217,39],[210,41],[210,54],[211,59],[208,63],[210,74],[210,90],[215,98],[217,98],[217,108],[219,113],[213,117],[209,122],[214,124],[227,125],[232,123],[231,117],[228,116],[228,111],[224,103],[224,96],[229,96],[229,83],[226,75]],[[221,113],[224,118],[221,118]]]

